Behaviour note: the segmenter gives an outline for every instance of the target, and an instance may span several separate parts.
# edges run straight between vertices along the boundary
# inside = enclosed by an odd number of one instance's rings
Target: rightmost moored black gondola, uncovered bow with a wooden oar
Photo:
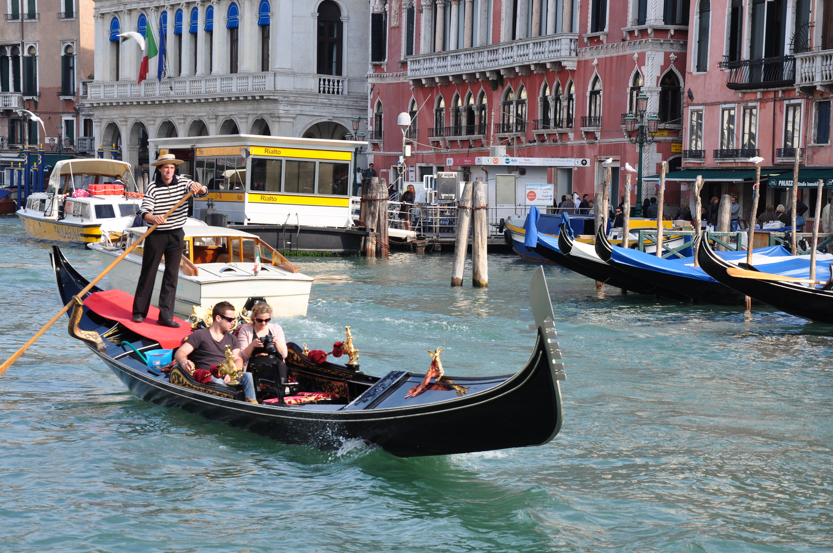
[[[721,259],[709,244],[706,235],[697,259],[700,267],[710,277],[734,289],[738,294],[750,296],[790,315],[815,322],[833,324],[833,291],[807,287],[797,282],[765,281],[756,278],[731,277],[727,269],[737,267]],[[746,267],[746,264],[743,264]],[[755,270],[753,267],[748,267]]]

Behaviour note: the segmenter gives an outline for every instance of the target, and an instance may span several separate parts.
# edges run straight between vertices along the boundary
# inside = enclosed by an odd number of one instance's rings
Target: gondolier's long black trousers
[[[159,289],[159,318],[173,320],[173,302],[177,295],[177,277],[179,262],[185,247],[185,232],[182,228],[170,231],[153,231],[145,238],[145,250],[142,254],[142,272],[133,298],[133,316],[147,316],[151,305],[153,285],[156,283],[157,270],[162,256],[165,256],[165,272]]]

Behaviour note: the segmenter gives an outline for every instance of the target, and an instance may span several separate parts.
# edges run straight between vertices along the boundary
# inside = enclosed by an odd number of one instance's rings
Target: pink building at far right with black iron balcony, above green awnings
[[[792,171],[796,148],[813,171],[799,182],[824,177],[830,187],[833,0],[699,0],[689,18],[682,169],[713,177],[704,202],[736,194],[748,217],[754,166],[745,160],[760,156],[768,177],[758,213],[789,209],[792,177],[776,176]],[[812,213],[815,185],[800,197]]]

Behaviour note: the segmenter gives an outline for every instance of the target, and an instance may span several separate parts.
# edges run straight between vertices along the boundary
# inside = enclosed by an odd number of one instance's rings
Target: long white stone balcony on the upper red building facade
[[[578,34],[560,33],[407,57],[407,78],[415,86],[429,82],[475,82],[498,75],[515,77],[559,67],[575,69]]]

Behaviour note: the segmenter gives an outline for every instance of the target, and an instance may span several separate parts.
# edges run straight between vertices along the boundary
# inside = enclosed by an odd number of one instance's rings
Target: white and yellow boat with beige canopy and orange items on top
[[[55,164],[46,192],[35,192],[17,210],[30,238],[91,244],[102,222],[135,215],[142,195],[127,162],[65,159]]]

